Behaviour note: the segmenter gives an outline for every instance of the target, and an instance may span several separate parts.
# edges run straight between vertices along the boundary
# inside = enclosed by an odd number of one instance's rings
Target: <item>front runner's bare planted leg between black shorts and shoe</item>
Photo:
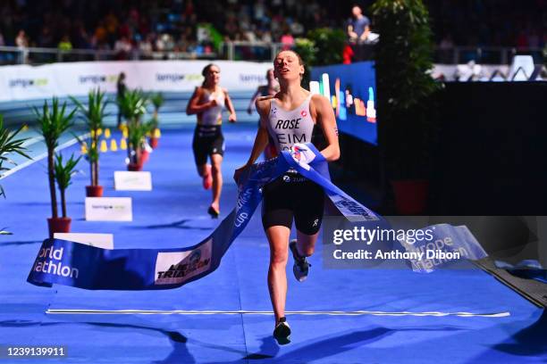
[[[287,259],[289,257],[290,228],[284,226],[268,227],[265,230],[270,244],[270,267],[268,269],[268,289],[272,300],[275,322],[285,316],[287,299]]]

